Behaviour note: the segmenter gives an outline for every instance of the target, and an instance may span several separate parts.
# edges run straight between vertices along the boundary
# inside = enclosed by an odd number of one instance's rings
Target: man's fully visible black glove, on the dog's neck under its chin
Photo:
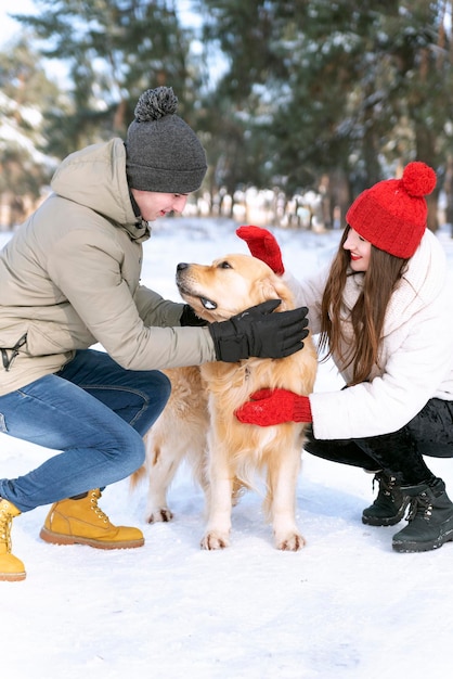
[[[308,308],[272,313],[281,299],[269,299],[229,321],[211,323],[218,361],[235,363],[243,358],[284,358],[303,347],[308,335]]]

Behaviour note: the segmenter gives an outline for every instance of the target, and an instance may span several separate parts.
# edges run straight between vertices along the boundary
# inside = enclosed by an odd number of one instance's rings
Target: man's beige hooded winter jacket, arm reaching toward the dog
[[[73,153],[51,187],[0,253],[0,395],[95,343],[130,370],[215,360],[207,329],[180,328],[182,305],[140,285],[150,229],[133,213],[122,141]]]

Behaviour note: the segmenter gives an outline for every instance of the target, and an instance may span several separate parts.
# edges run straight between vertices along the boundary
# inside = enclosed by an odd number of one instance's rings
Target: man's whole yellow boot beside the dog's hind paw
[[[78,500],[52,504],[40,537],[53,545],[89,545],[99,549],[128,549],[144,545],[138,528],[114,526],[98,507],[101,490],[90,490]]]

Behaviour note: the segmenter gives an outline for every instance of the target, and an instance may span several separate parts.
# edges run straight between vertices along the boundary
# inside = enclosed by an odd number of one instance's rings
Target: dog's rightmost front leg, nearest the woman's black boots
[[[268,472],[269,513],[276,549],[296,552],[306,543],[296,524],[296,487],[300,470],[299,448],[276,452]]]

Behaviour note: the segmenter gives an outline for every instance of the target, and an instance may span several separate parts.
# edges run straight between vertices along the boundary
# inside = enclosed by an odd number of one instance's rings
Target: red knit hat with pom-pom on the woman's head
[[[348,225],[365,241],[394,257],[409,259],[425,233],[424,198],[436,187],[435,170],[410,163],[401,179],[386,179],[363,191],[346,214]]]

